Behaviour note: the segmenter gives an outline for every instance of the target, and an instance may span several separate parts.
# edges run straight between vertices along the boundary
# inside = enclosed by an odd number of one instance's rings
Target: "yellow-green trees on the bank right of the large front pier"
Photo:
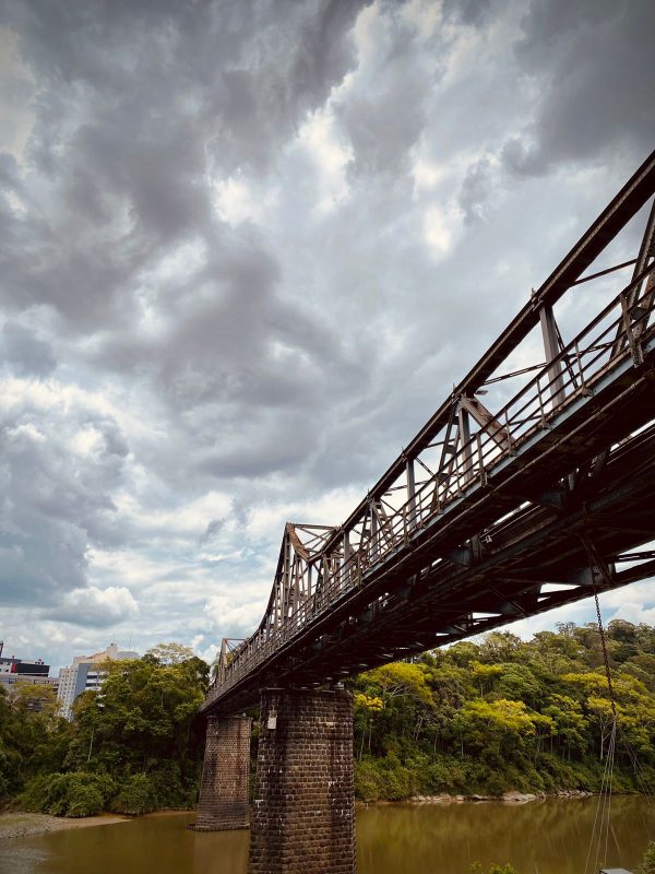
[[[616,621],[608,641],[621,733],[652,775],[655,630]],[[560,624],[529,642],[493,631],[374,669],[352,688],[365,801],[600,788],[614,717],[593,624]],[[622,747],[615,788],[639,789]]]

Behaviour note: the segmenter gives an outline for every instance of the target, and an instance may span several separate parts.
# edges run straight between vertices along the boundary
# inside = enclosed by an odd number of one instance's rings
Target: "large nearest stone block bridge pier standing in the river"
[[[352,696],[261,696],[250,874],[355,874]]]

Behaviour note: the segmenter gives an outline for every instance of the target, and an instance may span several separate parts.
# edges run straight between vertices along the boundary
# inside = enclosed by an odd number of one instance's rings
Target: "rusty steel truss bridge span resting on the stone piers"
[[[654,192],[655,152],[348,519],[286,524],[203,712],[655,575]]]

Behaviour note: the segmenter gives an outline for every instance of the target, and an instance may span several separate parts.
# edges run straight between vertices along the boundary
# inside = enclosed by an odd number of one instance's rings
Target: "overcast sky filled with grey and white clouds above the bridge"
[[[5,654],[250,633],[284,522],[343,521],[647,156],[654,33],[651,0],[2,0]],[[655,622],[655,584],[605,604]]]

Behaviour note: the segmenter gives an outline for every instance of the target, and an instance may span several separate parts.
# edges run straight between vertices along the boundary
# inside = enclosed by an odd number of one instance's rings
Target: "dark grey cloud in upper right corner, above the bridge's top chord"
[[[629,149],[638,160],[655,142],[650,0],[533,2],[516,57],[538,86],[533,120],[508,140],[517,174],[544,175],[561,162],[597,162]]]

